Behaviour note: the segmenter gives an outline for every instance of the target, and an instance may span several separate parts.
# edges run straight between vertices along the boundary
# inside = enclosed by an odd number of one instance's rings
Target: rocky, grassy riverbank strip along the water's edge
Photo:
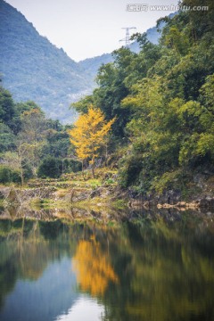
[[[59,179],[29,180],[24,187],[2,185],[0,205],[6,210],[21,209],[35,213],[39,210],[68,210],[73,217],[99,213],[97,217],[103,219],[113,218],[115,213],[118,216],[119,211],[122,216],[126,215],[128,210],[214,210],[214,177],[193,177],[190,190],[185,195],[170,189],[146,196],[131,188],[120,189],[117,179],[117,171],[97,169],[96,178],[86,170],[84,175],[78,172]]]

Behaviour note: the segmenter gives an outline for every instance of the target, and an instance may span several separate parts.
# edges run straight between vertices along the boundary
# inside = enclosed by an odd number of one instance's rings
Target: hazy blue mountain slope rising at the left
[[[33,100],[53,119],[70,120],[70,102],[91,92],[92,76],[62,49],[41,37],[10,4],[0,0],[1,78],[16,101]]]

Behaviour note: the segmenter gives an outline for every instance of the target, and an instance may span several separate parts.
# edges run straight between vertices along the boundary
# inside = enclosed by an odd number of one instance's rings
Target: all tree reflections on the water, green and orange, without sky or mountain
[[[18,277],[73,257],[79,289],[102,300],[103,320],[214,319],[214,233],[194,218],[120,228],[17,220],[0,224],[0,304]],[[7,237],[7,241],[5,241]]]

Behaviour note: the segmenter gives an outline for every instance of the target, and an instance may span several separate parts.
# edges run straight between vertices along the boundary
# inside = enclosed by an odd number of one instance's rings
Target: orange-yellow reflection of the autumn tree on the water
[[[118,276],[101,251],[100,243],[80,241],[72,263],[82,291],[103,295],[109,282],[118,282]]]

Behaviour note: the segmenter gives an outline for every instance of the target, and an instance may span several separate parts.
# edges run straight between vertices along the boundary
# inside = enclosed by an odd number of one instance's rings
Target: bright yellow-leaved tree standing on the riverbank
[[[76,153],[80,161],[90,159],[92,174],[95,178],[95,157],[98,151],[105,144],[105,138],[111,129],[115,119],[106,121],[104,114],[99,108],[93,105],[88,107],[86,114],[80,115],[70,129],[70,143],[76,147]]]

